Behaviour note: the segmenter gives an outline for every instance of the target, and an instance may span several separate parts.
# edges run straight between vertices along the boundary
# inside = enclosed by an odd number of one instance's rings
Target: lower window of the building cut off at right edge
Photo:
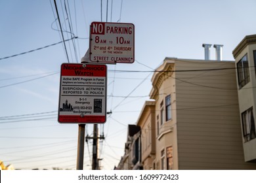
[[[249,108],[242,113],[242,125],[243,125],[243,134],[244,142],[251,141],[255,139],[255,122],[253,118],[253,108]]]

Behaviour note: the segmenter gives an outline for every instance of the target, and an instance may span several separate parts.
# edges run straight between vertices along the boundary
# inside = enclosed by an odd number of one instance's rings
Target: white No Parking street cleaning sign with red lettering
[[[133,24],[92,22],[90,59],[98,63],[133,63],[135,41]]]

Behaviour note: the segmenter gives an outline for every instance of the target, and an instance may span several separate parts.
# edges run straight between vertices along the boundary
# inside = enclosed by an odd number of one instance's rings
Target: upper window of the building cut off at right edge
[[[242,59],[240,59],[240,61],[238,61],[237,68],[239,88],[243,88],[243,86],[245,86],[245,84],[250,81],[247,54]]]

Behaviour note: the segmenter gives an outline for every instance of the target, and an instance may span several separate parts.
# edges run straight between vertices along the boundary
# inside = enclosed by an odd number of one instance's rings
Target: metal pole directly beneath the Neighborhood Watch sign
[[[83,170],[83,154],[85,150],[85,124],[78,125],[76,169]]]

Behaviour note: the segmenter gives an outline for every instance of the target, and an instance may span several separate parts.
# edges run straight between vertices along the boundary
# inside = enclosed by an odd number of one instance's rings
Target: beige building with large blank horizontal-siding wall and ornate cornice
[[[165,58],[156,70],[156,169],[256,169],[244,161],[234,61]]]

